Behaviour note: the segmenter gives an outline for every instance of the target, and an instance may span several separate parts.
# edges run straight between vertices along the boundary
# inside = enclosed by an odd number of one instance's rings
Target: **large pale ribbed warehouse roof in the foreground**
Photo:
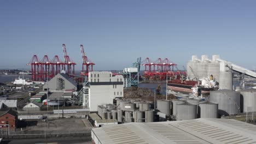
[[[234,119],[126,123],[92,129],[95,143],[256,143],[256,125]]]

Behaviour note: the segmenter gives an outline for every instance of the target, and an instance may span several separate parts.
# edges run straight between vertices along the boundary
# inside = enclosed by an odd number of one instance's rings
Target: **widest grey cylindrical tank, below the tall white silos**
[[[234,115],[240,113],[240,93],[229,89],[211,91],[209,101],[218,103],[218,113],[222,115]]]

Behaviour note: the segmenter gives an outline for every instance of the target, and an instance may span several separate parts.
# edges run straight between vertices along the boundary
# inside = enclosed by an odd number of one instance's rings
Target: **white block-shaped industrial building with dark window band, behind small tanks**
[[[113,104],[117,97],[124,94],[124,78],[122,75],[113,76],[109,71],[92,71],[88,75],[89,86],[83,88],[83,106],[90,111],[97,111],[98,105]]]

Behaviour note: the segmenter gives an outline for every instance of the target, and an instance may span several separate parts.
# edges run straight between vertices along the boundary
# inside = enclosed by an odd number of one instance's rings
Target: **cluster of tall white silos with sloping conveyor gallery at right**
[[[219,55],[213,55],[212,59],[209,59],[206,55],[202,55],[201,59],[197,58],[197,56],[192,56],[187,63],[187,76],[190,80],[204,79],[212,75],[219,83],[220,89],[232,90],[233,71],[240,74],[240,88],[244,87],[245,75],[256,78],[254,71],[225,61]]]

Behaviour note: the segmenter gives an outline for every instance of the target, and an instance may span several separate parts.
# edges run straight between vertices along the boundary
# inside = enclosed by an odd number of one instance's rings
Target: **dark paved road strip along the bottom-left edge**
[[[91,140],[86,137],[60,137],[59,139],[21,139],[21,140],[3,140],[2,143],[8,144],[35,144],[35,143],[75,143],[75,144],[89,144]],[[1,143],[1,144],[2,144]]]

